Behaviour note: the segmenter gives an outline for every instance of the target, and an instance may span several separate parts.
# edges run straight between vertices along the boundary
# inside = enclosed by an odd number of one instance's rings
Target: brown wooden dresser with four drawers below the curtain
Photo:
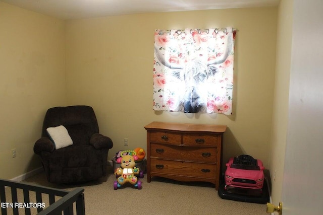
[[[160,176],[219,188],[226,125],[152,122],[147,130],[147,182]]]

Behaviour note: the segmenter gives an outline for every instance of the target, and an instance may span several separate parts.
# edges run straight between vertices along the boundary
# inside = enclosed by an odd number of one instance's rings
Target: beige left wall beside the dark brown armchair
[[[45,111],[65,105],[65,23],[0,2],[0,29],[0,178],[12,179],[40,167]]]

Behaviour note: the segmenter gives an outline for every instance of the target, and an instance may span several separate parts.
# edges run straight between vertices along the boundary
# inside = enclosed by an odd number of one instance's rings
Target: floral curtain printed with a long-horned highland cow
[[[231,114],[235,33],[156,30],[153,109]]]

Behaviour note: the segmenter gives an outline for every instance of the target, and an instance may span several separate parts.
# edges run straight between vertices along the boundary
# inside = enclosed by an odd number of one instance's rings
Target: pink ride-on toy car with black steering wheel
[[[240,155],[230,158],[226,166],[225,190],[228,186],[232,186],[262,191],[264,167],[259,159],[253,159],[249,155]]]

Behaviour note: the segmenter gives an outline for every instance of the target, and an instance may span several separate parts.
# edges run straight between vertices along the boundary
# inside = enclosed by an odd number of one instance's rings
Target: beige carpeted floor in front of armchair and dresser
[[[266,205],[222,199],[213,184],[204,182],[183,183],[164,178],[153,178],[147,183],[141,178],[142,189],[130,185],[114,190],[116,180],[112,167],[109,175],[98,181],[78,185],[48,183],[44,172],[23,182],[42,186],[73,190],[84,188],[85,212],[91,214],[230,214],[265,215]],[[11,214],[11,211],[8,211]],[[24,214],[24,213],[22,213]]]

